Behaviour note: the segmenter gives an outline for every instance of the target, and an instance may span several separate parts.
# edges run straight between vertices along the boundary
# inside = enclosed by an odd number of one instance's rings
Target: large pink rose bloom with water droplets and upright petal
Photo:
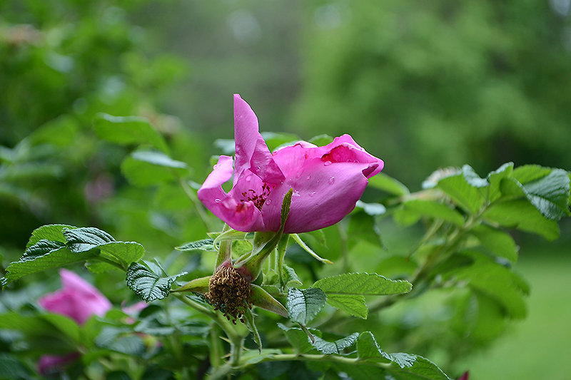
[[[278,231],[283,197],[293,188],[285,233],[328,227],[353,210],[368,178],[383,160],[361,148],[350,135],[318,147],[305,141],[271,153],[258,130],[258,118],[234,95],[235,159],[221,155],[198,190],[198,199],[230,227],[244,232]],[[233,176],[233,188],[222,184]]]

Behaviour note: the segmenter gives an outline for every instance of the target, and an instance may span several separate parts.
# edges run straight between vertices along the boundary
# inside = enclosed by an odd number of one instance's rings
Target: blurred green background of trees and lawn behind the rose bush
[[[97,138],[98,112],[151,120],[197,183],[221,153],[213,141],[233,138],[232,93],[263,131],[350,133],[412,190],[464,163],[569,170],[570,14],[570,0],[1,1],[2,265],[47,223],[151,252],[205,232],[175,185],[126,183],[128,150]],[[458,371],[567,379],[551,359],[571,338],[564,222],[556,245],[515,236],[529,317]]]

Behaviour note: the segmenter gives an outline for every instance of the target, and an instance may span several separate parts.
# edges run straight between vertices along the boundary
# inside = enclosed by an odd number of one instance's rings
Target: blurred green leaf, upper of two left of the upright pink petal
[[[94,120],[95,132],[100,138],[116,144],[148,144],[168,152],[163,136],[146,118],[139,116],[112,116],[98,113]]]

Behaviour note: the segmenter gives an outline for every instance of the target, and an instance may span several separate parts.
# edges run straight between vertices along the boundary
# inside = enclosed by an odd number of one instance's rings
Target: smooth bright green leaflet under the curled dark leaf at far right
[[[503,227],[542,235],[547,240],[557,239],[560,233],[557,222],[543,217],[541,212],[527,200],[497,202],[485,212],[484,217]]]

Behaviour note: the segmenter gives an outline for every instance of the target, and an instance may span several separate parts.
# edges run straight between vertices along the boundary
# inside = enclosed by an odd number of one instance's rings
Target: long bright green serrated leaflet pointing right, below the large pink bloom
[[[319,279],[312,285],[325,294],[388,295],[410,292],[413,285],[402,279],[388,279],[373,273],[344,273]]]

